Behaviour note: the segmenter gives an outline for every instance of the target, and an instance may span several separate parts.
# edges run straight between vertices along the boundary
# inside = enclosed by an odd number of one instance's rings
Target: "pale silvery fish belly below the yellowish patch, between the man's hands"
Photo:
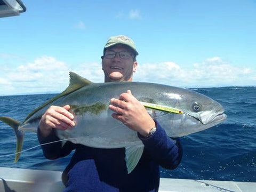
[[[137,132],[129,129],[123,123],[113,117],[100,114],[78,115],[77,123],[72,130],[57,130],[60,140],[69,140],[88,147],[95,148],[122,148],[127,146],[141,145]]]

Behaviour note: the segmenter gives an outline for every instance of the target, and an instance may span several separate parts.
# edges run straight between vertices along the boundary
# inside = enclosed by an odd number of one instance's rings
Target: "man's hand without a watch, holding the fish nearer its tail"
[[[39,122],[39,129],[43,137],[47,137],[52,129],[72,129],[76,125],[74,115],[69,112],[70,106],[49,107]]]

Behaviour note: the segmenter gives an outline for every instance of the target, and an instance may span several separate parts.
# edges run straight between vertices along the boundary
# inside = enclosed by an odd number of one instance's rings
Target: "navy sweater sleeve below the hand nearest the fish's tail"
[[[37,138],[43,149],[44,156],[47,159],[65,157],[70,154],[73,149],[75,149],[75,145],[70,141],[67,141],[65,145],[62,146],[62,143],[57,137],[54,129],[52,129],[50,135],[43,137],[38,127]]]

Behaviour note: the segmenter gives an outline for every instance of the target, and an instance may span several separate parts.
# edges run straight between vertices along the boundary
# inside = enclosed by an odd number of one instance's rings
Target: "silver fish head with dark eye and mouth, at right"
[[[172,106],[180,109],[183,114],[166,114],[162,121],[170,137],[182,137],[199,132],[218,125],[227,118],[220,103],[201,93],[186,90],[176,94],[179,97],[175,97],[175,105],[172,104]],[[170,102],[173,103],[173,93]]]

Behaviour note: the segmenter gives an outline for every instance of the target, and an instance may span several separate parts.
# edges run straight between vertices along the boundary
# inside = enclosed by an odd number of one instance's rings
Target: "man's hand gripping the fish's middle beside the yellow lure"
[[[115,112],[112,116],[142,136],[146,137],[155,126],[154,120],[147,113],[145,107],[132,95],[130,90],[122,93],[119,99],[110,99],[110,102],[112,104],[109,105],[109,109]]]

